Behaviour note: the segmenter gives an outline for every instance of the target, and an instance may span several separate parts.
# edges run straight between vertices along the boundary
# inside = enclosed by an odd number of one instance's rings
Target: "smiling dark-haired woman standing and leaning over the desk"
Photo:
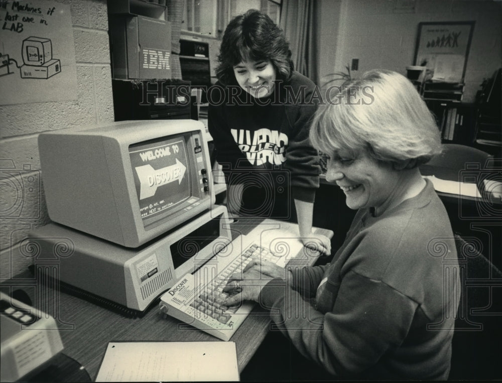
[[[230,213],[296,218],[302,241],[329,254],[330,240],[311,233],[320,174],[309,141],[314,83],[293,70],[282,30],[257,10],[228,24],[218,60],[208,127]]]

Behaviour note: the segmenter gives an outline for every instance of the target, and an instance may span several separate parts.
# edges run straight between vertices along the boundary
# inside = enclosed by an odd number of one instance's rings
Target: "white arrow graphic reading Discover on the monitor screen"
[[[143,165],[136,168],[136,173],[140,179],[140,199],[152,197],[159,186],[166,185],[170,182],[181,180],[185,175],[186,166],[178,159],[176,164],[166,166],[165,168],[155,170],[152,165]]]

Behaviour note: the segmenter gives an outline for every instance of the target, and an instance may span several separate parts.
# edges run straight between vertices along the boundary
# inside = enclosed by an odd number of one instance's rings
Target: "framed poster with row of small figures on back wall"
[[[418,25],[415,65],[426,66],[432,80],[463,82],[474,21]]]

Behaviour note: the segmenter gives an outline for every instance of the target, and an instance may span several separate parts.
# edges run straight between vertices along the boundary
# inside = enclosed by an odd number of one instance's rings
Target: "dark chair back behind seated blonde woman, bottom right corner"
[[[461,293],[449,380],[500,379],[502,272],[467,240],[455,234]]]

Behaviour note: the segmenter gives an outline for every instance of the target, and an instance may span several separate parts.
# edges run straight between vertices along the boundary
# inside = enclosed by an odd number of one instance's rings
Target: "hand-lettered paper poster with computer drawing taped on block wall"
[[[77,99],[70,6],[0,0],[0,105]]]

